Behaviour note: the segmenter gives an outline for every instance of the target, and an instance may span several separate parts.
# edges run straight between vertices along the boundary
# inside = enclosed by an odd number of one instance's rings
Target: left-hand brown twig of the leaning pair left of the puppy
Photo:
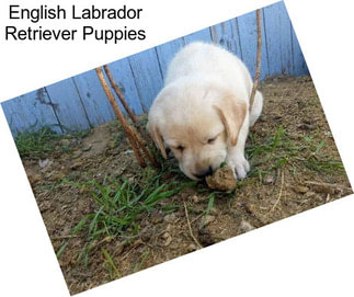
[[[144,159],[141,157],[141,153],[140,153],[138,147],[137,147],[137,144],[136,144],[135,139],[134,139],[135,137],[132,134],[132,128],[126,123],[126,121],[125,121],[125,118],[124,118],[124,116],[123,116],[123,114],[122,114],[122,112],[119,110],[119,106],[116,103],[116,101],[115,101],[115,99],[114,99],[114,96],[113,96],[113,94],[112,94],[112,92],[111,92],[111,90],[109,88],[107,82],[105,81],[105,78],[103,76],[102,69],[100,67],[98,67],[98,68],[95,68],[95,72],[96,72],[96,75],[98,75],[98,77],[100,79],[100,82],[102,84],[104,93],[107,96],[107,99],[109,99],[109,101],[110,101],[110,103],[111,103],[111,105],[112,105],[118,121],[121,122],[122,127],[123,127],[129,142],[130,142],[130,146],[133,148],[133,151],[135,153],[136,159],[138,160],[140,167],[146,167],[146,162],[144,161]]]

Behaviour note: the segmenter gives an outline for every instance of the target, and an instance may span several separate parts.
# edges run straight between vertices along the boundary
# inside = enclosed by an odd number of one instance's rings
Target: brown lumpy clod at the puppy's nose
[[[236,187],[236,179],[230,167],[218,168],[213,175],[205,178],[208,187],[220,191],[230,191]]]

